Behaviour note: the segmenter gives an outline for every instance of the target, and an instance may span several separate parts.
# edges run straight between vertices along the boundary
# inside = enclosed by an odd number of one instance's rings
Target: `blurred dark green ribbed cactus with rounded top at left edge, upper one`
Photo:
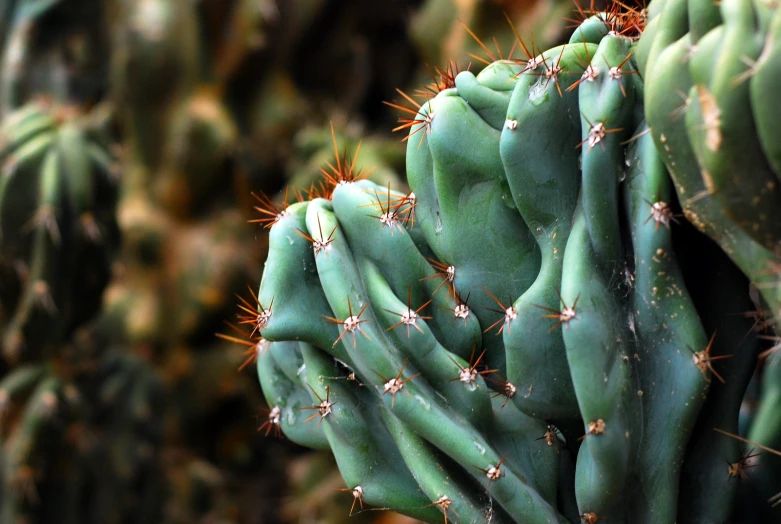
[[[35,360],[100,306],[118,241],[116,165],[99,111],[38,100],[0,133],[3,350]]]

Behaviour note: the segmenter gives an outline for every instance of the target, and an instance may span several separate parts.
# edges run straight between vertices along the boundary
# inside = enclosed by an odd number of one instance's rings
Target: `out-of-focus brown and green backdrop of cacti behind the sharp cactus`
[[[383,102],[509,56],[507,18],[551,47],[573,8],[0,0],[0,522],[347,522],[331,456],[261,426],[256,207],[305,196],[334,140],[404,190]]]

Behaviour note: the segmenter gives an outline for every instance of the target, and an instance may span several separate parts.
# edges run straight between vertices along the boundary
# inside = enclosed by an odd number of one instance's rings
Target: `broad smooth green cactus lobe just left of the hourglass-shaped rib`
[[[470,296],[485,330],[497,318],[490,311],[496,304],[483,289],[500,294],[499,300],[509,306],[531,285],[539,251],[512,201],[499,156],[499,131],[452,90],[427,107],[434,118],[421,149],[428,151],[419,152],[415,144],[407,148],[417,216],[432,251],[455,267],[455,289]],[[504,375],[501,339],[485,336],[484,346],[488,365]]]

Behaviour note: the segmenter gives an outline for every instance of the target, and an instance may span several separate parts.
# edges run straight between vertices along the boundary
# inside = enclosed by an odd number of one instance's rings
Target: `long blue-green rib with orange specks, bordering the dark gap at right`
[[[646,129],[641,126],[635,135]],[[712,373],[699,369],[693,360],[708,346],[708,337],[673,249],[672,224],[660,224],[652,215],[654,204],[666,204],[672,197],[652,137],[640,136],[627,158],[625,197],[634,251],[629,315],[637,349],[632,365],[642,402],[639,434],[634,438],[639,440],[636,468],[644,504],[635,511],[638,522],[670,522],[677,514],[686,443],[711,380]]]

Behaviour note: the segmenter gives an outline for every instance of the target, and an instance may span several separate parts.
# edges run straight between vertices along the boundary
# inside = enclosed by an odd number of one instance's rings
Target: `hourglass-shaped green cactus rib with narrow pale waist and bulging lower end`
[[[513,199],[542,259],[536,280],[513,304],[516,319],[503,333],[507,373],[521,392],[513,397],[516,405],[546,420],[579,417],[561,331],[540,318],[545,310],[564,307],[557,293],[580,189],[580,153],[574,147],[581,132],[578,95],[571,87],[584,78],[595,50],[593,44],[568,44],[543,53],[547,67],[562,70],[558,85],[543,66],[520,75],[500,144]]]

